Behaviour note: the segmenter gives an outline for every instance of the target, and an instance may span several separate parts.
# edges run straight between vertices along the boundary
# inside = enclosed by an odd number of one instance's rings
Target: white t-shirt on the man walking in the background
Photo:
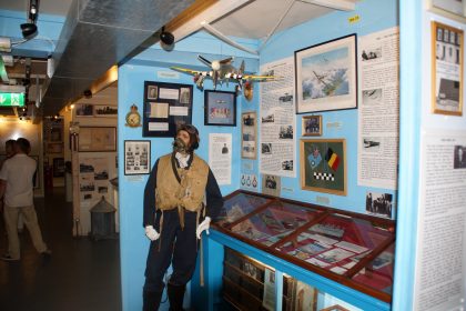
[[[32,178],[37,169],[34,159],[24,153],[16,154],[4,161],[0,179],[7,182],[4,203],[12,208],[33,204]]]

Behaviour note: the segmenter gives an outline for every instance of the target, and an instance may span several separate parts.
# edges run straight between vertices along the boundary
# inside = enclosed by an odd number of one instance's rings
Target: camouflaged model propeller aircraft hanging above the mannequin
[[[275,80],[277,77],[274,76],[255,76],[255,74],[246,74],[244,72],[245,66],[244,60],[241,62],[240,68],[234,68],[232,66],[233,57],[225,58],[222,60],[213,60],[210,61],[202,56],[197,56],[197,59],[209,66],[211,70],[209,71],[200,71],[193,70],[189,68],[181,68],[181,67],[171,67],[172,70],[181,71],[184,73],[190,73],[194,76],[194,82],[197,88],[202,89],[204,87],[205,78],[211,78],[213,81],[214,90],[216,86],[223,82],[226,82],[226,86],[230,81],[236,82],[239,86],[239,90],[243,89],[243,84],[249,86],[251,81],[270,81]]]

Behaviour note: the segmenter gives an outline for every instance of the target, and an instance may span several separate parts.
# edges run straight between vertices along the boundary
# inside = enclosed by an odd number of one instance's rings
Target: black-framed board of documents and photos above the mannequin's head
[[[176,128],[191,123],[193,86],[144,82],[143,137],[174,137]]]

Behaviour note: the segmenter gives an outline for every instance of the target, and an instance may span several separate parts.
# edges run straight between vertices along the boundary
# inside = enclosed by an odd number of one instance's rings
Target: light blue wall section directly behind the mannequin
[[[245,42],[255,48],[256,42]],[[191,47],[191,48],[189,48]],[[120,175],[120,247],[122,294],[124,310],[140,310],[142,307],[142,285],[144,282],[145,259],[149,250],[149,240],[144,235],[142,227],[143,192],[148,175],[125,177],[123,171],[124,140],[150,140],[151,165],[160,156],[171,151],[172,138],[143,138],[142,128],[125,127],[124,117],[134,103],[139,111],[143,111],[144,81],[159,81],[172,83],[193,84],[193,78],[189,74],[179,73],[176,79],[160,79],[158,72],[171,72],[170,66],[184,66],[202,69],[205,67],[196,59],[197,53],[207,59],[220,59],[229,56],[236,57],[234,64],[239,66],[244,59],[246,70],[255,71],[259,66],[256,58],[232,49],[229,46],[213,39],[207,34],[194,34],[183,42],[176,43],[172,52],[165,52],[159,47],[153,47],[119,68],[119,175]],[[247,58],[244,58],[247,57]],[[222,194],[227,194],[239,188],[240,159],[240,127],[212,127],[204,126],[204,93],[194,86],[192,123],[199,129],[201,143],[196,153],[209,161],[209,134],[231,133],[233,143],[232,183],[221,185]],[[213,89],[212,81],[206,81],[204,89]],[[219,87],[219,90],[234,90],[234,83],[229,87]],[[256,99],[255,99],[256,100]],[[240,123],[241,111],[245,104],[242,96],[237,97],[236,123]],[[162,308],[166,308],[164,304]]]

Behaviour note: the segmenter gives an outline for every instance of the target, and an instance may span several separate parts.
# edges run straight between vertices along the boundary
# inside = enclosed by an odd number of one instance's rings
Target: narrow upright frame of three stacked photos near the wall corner
[[[241,158],[255,160],[257,157],[256,112],[241,114]]]

